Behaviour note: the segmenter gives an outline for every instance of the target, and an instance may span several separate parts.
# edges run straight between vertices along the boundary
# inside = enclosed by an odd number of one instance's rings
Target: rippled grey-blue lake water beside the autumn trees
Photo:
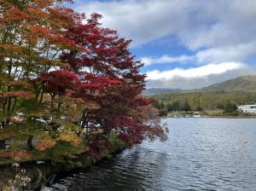
[[[166,142],[143,142],[51,190],[256,190],[256,119],[162,121]]]

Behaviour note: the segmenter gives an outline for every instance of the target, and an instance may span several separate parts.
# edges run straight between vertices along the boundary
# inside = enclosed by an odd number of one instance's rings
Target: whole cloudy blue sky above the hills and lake
[[[197,89],[256,75],[255,0],[74,0],[132,40],[148,88]]]

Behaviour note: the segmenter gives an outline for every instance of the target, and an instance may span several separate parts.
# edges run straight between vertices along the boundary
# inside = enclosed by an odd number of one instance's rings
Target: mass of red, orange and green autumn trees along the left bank
[[[0,1],[0,165],[166,139],[131,40],[63,3]]]

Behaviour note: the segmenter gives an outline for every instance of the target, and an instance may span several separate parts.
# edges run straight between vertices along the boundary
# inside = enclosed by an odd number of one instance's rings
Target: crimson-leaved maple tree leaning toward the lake
[[[80,96],[99,106],[95,110],[84,109],[80,125],[102,128],[105,133],[116,130],[126,142],[141,142],[148,136],[150,126],[139,108],[151,103],[140,96],[145,86],[145,76],[139,71],[143,64],[131,54],[131,41],[103,28],[100,18],[100,14],[91,14],[85,24],[71,27],[67,32],[68,38],[89,52],[76,50],[61,55],[69,70],[80,76],[80,92],[83,92]]]

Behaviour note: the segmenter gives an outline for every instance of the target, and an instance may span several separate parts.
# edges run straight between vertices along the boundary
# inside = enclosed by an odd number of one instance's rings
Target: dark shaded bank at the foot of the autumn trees
[[[28,161],[16,161],[19,164],[19,170],[26,170],[26,177],[31,178],[32,184],[38,183],[38,188],[33,190],[41,190],[41,188],[50,186],[52,182],[59,179],[70,172],[86,171],[91,166],[101,164],[102,161],[112,159],[117,154],[122,153],[125,149],[131,148],[131,146],[125,146],[125,148],[114,149],[109,153],[110,156],[102,157],[101,159],[90,159],[85,153],[79,153],[76,158],[63,160],[62,162],[55,163],[52,160],[43,160],[43,164],[37,164],[35,160]],[[9,188],[9,180],[13,180],[17,175],[17,169],[13,167],[14,163],[6,165],[0,165],[0,190]]]

